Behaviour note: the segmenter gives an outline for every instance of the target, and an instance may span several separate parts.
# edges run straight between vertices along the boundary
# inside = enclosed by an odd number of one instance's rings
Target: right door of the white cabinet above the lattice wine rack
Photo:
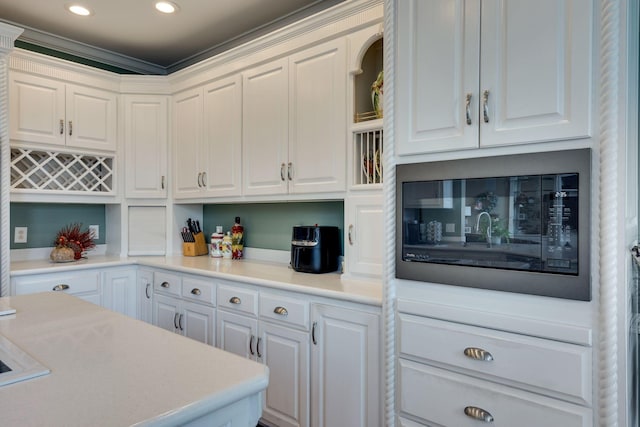
[[[67,145],[116,150],[117,97],[114,93],[67,85]]]

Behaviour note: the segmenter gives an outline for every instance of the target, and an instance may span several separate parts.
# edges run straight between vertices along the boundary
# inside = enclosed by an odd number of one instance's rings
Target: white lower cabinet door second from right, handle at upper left
[[[260,323],[259,360],[269,367],[262,418],[278,427],[309,425],[309,332]]]

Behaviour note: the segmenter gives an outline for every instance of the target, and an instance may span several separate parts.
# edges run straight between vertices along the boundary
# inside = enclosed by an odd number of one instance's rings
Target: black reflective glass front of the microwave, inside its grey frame
[[[578,178],[402,182],[402,260],[578,275]]]

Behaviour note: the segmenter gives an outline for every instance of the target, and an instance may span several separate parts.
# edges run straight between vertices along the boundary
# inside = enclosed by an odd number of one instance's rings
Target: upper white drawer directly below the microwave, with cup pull
[[[407,314],[398,323],[403,356],[591,404],[589,347]]]

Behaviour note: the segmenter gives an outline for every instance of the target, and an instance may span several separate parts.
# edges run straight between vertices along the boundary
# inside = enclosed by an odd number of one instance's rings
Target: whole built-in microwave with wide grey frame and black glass
[[[396,277],[591,300],[589,149],[402,164]]]

